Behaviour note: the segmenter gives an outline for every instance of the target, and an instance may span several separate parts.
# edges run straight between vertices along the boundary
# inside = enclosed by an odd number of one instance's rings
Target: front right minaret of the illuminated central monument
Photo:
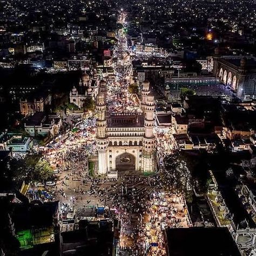
[[[154,163],[154,147],[155,137],[153,135],[154,127],[154,96],[151,93],[147,93],[146,104],[144,105],[145,113],[145,135],[143,138],[143,171],[153,172]]]

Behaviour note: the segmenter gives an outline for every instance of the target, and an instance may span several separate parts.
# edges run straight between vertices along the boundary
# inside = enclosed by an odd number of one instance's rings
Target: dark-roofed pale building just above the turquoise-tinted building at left
[[[59,134],[62,127],[62,119],[59,113],[51,113],[46,116],[43,112],[36,112],[33,116],[26,120],[25,131],[31,136],[46,136],[55,137]]]

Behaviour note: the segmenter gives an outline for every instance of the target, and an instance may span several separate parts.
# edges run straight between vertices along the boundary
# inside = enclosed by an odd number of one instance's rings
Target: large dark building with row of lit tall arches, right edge
[[[256,97],[256,58],[219,56],[215,51],[213,75],[230,86],[242,100]]]

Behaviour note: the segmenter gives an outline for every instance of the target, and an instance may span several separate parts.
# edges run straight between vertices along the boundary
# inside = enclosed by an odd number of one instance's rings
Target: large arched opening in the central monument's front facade
[[[117,171],[136,170],[136,156],[131,153],[123,152],[116,157],[115,161]]]

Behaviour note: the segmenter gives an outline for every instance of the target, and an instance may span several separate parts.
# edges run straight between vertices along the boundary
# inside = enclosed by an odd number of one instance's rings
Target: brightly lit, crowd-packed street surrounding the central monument
[[[119,22],[125,26],[125,14]],[[140,100],[129,92],[132,63],[124,29],[117,33],[112,68],[114,78],[107,79],[109,112],[142,112]],[[55,173],[55,181],[46,187],[31,188],[31,195],[42,190],[41,200],[59,200],[61,217],[80,213],[90,207],[114,211],[122,226],[118,242],[119,255],[166,255],[163,230],[188,227],[186,202],[176,191],[165,169],[165,157],[174,150],[171,130],[154,128],[159,163],[157,173],[144,176],[122,175],[97,177],[96,115],[70,119],[72,131],[58,136],[43,152]]]

